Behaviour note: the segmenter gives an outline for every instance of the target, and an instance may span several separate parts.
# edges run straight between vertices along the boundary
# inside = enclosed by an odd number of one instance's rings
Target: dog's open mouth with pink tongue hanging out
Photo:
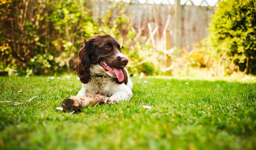
[[[105,61],[100,61],[101,67],[105,69],[105,71],[108,71],[109,73],[116,76],[119,82],[122,82],[124,80],[124,74],[122,71],[122,68],[114,68],[112,66],[109,66]]]

